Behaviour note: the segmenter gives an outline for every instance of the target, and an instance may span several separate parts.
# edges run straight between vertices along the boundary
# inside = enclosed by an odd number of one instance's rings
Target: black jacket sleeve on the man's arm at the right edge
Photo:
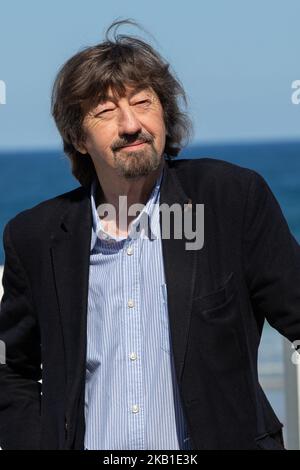
[[[251,173],[243,235],[251,303],[283,336],[299,340],[300,246],[264,178]]]

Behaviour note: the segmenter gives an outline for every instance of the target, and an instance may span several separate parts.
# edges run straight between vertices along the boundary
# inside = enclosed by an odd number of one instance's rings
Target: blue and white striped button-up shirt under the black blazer
[[[87,318],[86,449],[188,449],[170,349],[159,196],[162,174],[132,227],[113,238],[101,228],[95,193]]]

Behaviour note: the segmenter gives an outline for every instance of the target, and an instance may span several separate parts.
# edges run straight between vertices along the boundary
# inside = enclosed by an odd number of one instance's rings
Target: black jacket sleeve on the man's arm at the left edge
[[[41,353],[30,285],[13,245],[11,222],[4,229],[4,294],[0,306],[0,446],[38,449]],[[33,254],[34,256],[34,254]]]

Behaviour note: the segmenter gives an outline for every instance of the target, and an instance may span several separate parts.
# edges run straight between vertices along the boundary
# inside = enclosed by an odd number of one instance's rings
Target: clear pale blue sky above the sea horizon
[[[60,145],[50,115],[58,68],[126,17],[183,83],[194,143],[300,139],[299,0],[10,0],[0,7],[0,151]]]

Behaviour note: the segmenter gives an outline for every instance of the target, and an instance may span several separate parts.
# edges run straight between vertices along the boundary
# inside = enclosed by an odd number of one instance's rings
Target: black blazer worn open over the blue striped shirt
[[[4,449],[83,448],[89,191],[80,186],[5,226]],[[203,248],[186,250],[174,236],[162,248],[193,449],[282,448],[257,350],[265,318],[290,341],[300,338],[299,244],[255,171],[211,158],[166,161],[160,202],[189,200],[193,214],[204,204]]]

